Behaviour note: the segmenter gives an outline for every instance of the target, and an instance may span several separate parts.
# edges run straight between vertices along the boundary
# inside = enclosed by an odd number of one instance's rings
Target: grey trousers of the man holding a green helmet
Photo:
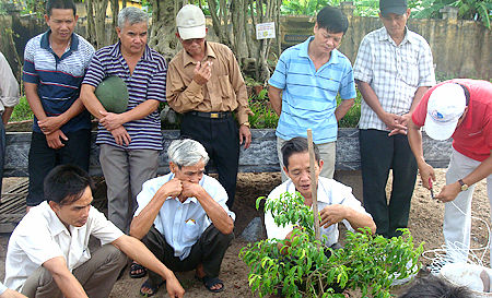
[[[128,234],[143,182],[157,176],[159,151],[102,144],[99,162],[107,184],[107,218]]]

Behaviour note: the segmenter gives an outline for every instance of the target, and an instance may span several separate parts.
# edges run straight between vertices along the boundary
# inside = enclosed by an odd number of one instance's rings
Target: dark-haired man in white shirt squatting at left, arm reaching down
[[[183,297],[172,271],[91,206],[93,187],[87,172],[74,165],[48,174],[46,201],[31,208],[10,237],[5,285],[36,298],[108,297],[128,254],[159,272],[171,297]],[[92,255],[91,236],[102,245]]]

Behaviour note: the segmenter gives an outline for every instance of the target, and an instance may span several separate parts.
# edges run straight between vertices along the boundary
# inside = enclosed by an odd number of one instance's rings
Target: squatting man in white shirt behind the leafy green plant
[[[314,144],[315,174],[317,180],[318,210],[321,216],[320,233],[326,247],[340,248],[338,243],[338,224],[343,222],[349,230],[370,227],[374,234],[376,224],[371,215],[361,205],[361,202],[352,194],[350,187],[319,177],[324,162],[320,159],[319,150]],[[312,182],[309,169],[309,153],[305,138],[294,138],[282,146],[283,169],[289,180],[278,186],[268,195],[268,200],[279,199],[284,192],[294,194],[296,191],[304,198],[304,204],[312,206]],[[265,226],[269,239],[290,239],[294,229],[293,225],[277,226],[270,212],[265,214]],[[326,236],[326,238],[324,237]]]

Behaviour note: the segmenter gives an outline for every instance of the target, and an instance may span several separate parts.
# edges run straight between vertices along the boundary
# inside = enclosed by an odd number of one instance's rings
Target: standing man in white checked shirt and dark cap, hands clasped
[[[407,126],[435,78],[429,44],[406,26],[407,0],[380,0],[379,10],[384,27],[362,39],[353,72],[364,98],[359,121],[364,206],[376,222],[376,233],[391,238],[407,227],[417,179]]]

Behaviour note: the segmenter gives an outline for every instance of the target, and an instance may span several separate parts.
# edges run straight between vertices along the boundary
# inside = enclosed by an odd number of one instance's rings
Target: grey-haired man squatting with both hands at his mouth
[[[203,175],[209,155],[199,142],[173,141],[167,155],[172,172],[143,183],[130,235],[142,239],[171,270],[196,270],[207,289],[221,291],[224,283],[218,276],[234,239],[235,214],[226,205],[227,193],[219,181]],[[161,285],[151,271],[142,295],[154,295]]]

